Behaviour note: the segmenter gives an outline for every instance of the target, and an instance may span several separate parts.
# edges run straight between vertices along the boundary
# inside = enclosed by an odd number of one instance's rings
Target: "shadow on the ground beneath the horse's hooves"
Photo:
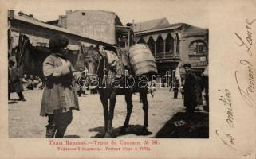
[[[126,128],[125,132],[121,132],[121,128],[122,126],[118,127],[118,128],[114,128],[112,129],[112,138],[117,138],[119,136],[123,136],[123,135],[127,135],[127,134],[135,134],[137,136],[147,136],[152,134],[152,132],[148,131],[145,132],[144,134],[141,134],[141,130],[142,130],[141,125],[130,125],[128,126],[128,128]],[[104,138],[104,127],[103,126],[99,126],[99,127],[95,127],[92,129],[89,129],[90,132],[98,132],[95,136],[91,137],[91,138]]]

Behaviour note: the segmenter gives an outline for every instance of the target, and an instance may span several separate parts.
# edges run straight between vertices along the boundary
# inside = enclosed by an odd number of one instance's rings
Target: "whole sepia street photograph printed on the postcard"
[[[209,137],[207,21],[127,14],[8,10],[9,138]]]

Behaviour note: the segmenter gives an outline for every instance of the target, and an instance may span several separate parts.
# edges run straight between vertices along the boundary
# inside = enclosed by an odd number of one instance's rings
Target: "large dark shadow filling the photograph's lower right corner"
[[[209,114],[179,112],[166,122],[155,138],[209,138]]]

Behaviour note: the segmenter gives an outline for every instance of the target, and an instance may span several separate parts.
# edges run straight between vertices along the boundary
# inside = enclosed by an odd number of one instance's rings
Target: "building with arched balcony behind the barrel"
[[[190,63],[203,72],[208,59],[208,29],[184,23],[169,24],[166,18],[136,23],[133,42],[146,43],[156,58],[158,72],[175,76],[176,68]]]

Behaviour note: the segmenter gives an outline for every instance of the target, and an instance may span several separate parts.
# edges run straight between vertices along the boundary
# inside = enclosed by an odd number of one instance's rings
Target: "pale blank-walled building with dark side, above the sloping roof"
[[[105,10],[67,10],[58,20],[46,23],[121,48],[128,48],[132,37],[132,27],[124,26],[114,12]]]

